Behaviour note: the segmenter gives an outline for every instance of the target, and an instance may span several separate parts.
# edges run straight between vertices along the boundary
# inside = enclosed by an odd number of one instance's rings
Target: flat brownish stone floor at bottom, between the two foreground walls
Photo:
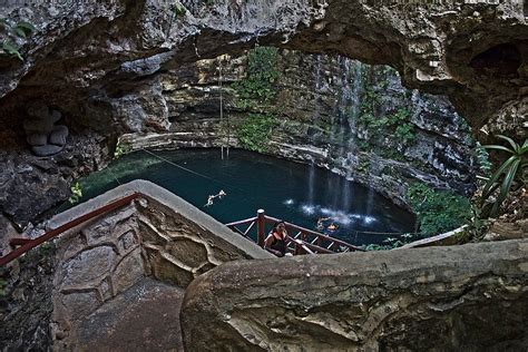
[[[183,351],[184,290],[145,277],[76,326],[76,350]]]

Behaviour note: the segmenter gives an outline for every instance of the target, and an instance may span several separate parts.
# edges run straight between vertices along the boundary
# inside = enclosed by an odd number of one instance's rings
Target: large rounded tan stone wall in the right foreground
[[[526,239],[227,263],[185,293],[185,350],[526,350],[527,280]]]

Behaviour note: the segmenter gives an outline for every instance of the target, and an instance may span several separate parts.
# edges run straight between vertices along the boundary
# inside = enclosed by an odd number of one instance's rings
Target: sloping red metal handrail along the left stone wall
[[[131,201],[136,199],[137,197],[139,197],[140,194],[139,193],[134,193],[129,196],[126,196],[124,198],[120,198],[118,201],[115,201],[113,203],[109,203],[105,206],[101,206],[90,213],[87,213],[85,215],[81,215],[75,219],[72,219],[71,222],[68,222],[63,225],[60,225],[59,227],[57,228],[53,228],[49,232],[47,232],[46,234],[43,234],[42,236],[39,236],[37,238],[33,238],[33,239],[30,239],[30,238],[12,238],[9,244],[11,246],[19,246],[18,248],[11,251],[10,253],[8,253],[7,255],[0,257],[0,266],[1,265],[6,265],[8,264],[9,262],[18,258],[19,256],[21,256],[22,254],[25,254],[26,252],[35,248],[36,246],[38,246],[39,244],[41,243],[45,243],[46,241],[49,241],[51,238],[55,238],[57,237],[58,235],[60,235],[61,233],[68,231],[68,229],[71,229],[74,227],[76,227],[77,225],[80,225],[89,219],[92,219],[94,217],[96,216],[99,216],[99,215],[102,215],[102,214],[106,214],[106,213],[109,213],[109,212],[113,212],[117,208],[120,208],[127,204],[129,204]]]

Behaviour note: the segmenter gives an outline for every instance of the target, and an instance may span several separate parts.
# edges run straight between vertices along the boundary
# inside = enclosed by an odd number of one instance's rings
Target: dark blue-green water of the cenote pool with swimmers
[[[91,198],[136,178],[148,179],[175,193],[222,223],[266,214],[315,229],[317,218],[332,217],[338,229],[326,233],[353,244],[381,243],[388,235],[359,232],[413,232],[415,218],[369,188],[317,167],[231,150],[222,160],[218,149],[155,151],[184,170],[138,151],[80,180],[82,198]],[[192,170],[192,172],[189,172]],[[227,193],[205,207],[207,196]],[[391,236],[397,237],[397,236]]]

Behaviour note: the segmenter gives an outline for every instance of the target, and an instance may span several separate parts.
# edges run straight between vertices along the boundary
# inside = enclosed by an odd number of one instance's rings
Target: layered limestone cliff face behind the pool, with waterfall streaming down
[[[133,148],[258,148],[241,143],[241,129],[251,116],[272,116],[268,134],[250,136],[262,143],[261,151],[326,167],[401,205],[412,182],[472,190],[472,138],[446,97],[405,89],[387,66],[292,50],[280,50],[275,60],[276,81],[251,97],[239,85],[258,62],[248,63],[247,55],[163,74],[156,89],[166,101],[170,131],[131,134],[124,141]],[[272,98],[260,99],[268,88]]]

